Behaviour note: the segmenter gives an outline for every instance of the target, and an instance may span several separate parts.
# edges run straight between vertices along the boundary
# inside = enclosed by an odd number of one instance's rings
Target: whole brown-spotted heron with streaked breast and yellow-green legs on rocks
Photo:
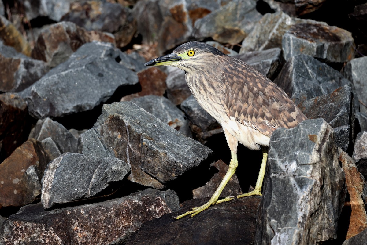
[[[294,127],[307,119],[297,105],[254,68],[204,42],[182,44],[173,53],[150,60],[145,66],[175,66],[185,71],[186,82],[197,102],[223,127],[232,154],[228,171],[210,200],[176,218],[192,217],[213,204],[234,198],[261,195],[267,146],[273,131]],[[255,189],[218,200],[238,166],[238,142],[252,150],[263,146]]]

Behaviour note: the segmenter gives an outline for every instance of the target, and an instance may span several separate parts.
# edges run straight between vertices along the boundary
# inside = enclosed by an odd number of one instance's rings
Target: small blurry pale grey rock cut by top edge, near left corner
[[[24,0],[24,11],[29,20],[46,17],[52,21],[59,22],[63,15],[70,11],[70,3],[74,0]]]

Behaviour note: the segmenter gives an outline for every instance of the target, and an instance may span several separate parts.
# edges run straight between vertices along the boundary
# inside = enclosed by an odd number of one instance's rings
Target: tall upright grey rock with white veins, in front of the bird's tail
[[[336,237],[345,198],[333,129],[310,119],[270,138],[254,244],[317,244]]]

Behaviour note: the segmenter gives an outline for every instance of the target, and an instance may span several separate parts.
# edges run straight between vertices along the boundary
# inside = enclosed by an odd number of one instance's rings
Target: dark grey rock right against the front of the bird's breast
[[[190,121],[191,131],[201,143],[205,144],[209,137],[223,133],[221,125],[197,103],[194,96],[183,101],[181,109]]]

